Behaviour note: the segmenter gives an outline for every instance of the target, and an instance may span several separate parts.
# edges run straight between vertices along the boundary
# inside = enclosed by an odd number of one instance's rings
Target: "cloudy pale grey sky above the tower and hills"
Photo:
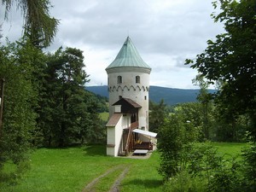
[[[91,85],[107,85],[105,68],[114,60],[127,36],[151,68],[150,85],[196,89],[197,71],[184,65],[207,48],[207,40],[224,32],[211,14],[212,0],[51,0],[50,15],[60,20],[55,41],[48,48],[84,51],[85,72]],[[22,35],[20,11],[3,20],[3,38]]]

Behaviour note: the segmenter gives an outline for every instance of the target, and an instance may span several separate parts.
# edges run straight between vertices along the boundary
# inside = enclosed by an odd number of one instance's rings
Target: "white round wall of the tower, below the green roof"
[[[120,97],[130,98],[142,106],[138,111],[139,127],[148,131],[149,73],[135,67],[124,71],[124,68],[119,67],[116,72],[108,73],[109,116],[114,113],[114,102],[119,101]],[[121,77],[121,83],[118,82],[118,76]]]

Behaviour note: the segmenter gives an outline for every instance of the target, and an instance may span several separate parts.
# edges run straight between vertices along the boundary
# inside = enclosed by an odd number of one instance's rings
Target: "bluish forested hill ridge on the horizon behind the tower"
[[[108,86],[89,86],[86,87],[96,95],[108,97]],[[214,90],[209,90],[213,92]],[[196,96],[199,90],[183,90],[183,89],[173,89],[167,87],[150,86],[149,99],[153,102],[160,102],[163,99],[168,105],[175,105],[177,103],[183,102],[196,102]]]

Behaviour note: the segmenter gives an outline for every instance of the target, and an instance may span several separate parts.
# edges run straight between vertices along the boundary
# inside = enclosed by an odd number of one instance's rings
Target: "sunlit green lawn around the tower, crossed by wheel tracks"
[[[221,154],[240,154],[243,143],[213,143]],[[121,191],[162,191],[158,152],[149,159],[113,158],[105,146],[39,148],[32,154],[32,167],[18,184],[0,183],[2,192],[109,191],[116,181]],[[7,168],[10,165],[7,165]],[[122,173],[126,173],[122,177]],[[119,180],[119,178],[123,178]],[[96,180],[95,180],[96,179]],[[94,183],[92,182],[94,181]],[[91,185],[90,188],[85,188]]]

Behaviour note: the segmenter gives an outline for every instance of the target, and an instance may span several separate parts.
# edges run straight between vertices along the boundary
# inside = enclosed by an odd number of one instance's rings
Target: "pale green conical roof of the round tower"
[[[119,54],[115,57],[114,61],[106,68],[106,70],[110,68],[116,67],[140,67],[140,68],[151,68],[145,63],[142,57],[137,52],[136,47],[131,42],[131,38],[127,37],[125,40],[125,44],[119,50]]]

